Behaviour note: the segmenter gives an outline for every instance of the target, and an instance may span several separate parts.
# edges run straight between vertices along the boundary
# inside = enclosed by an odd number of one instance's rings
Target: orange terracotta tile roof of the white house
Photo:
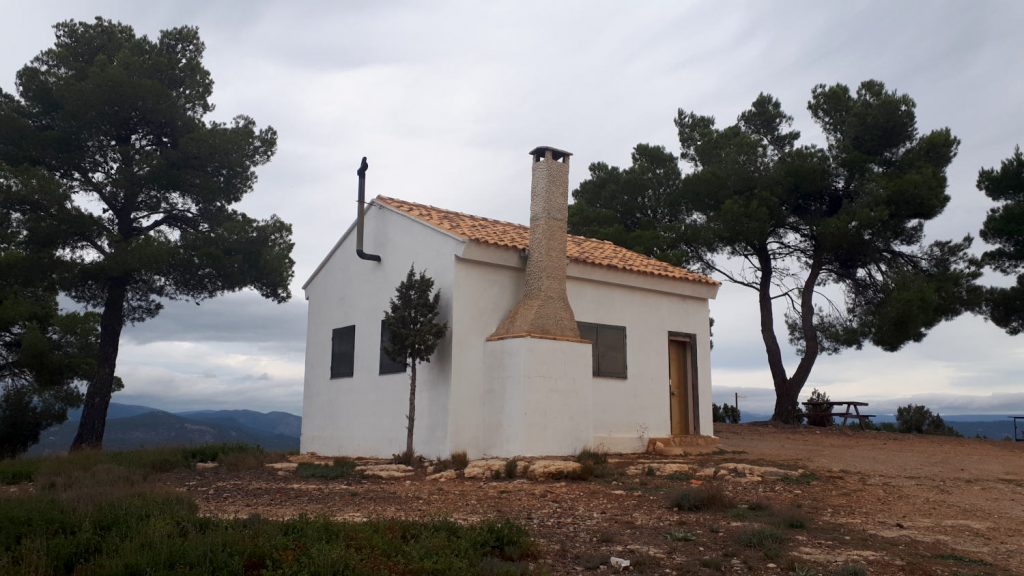
[[[386,196],[378,196],[375,202],[426,222],[450,234],[494,246],[523,249],[529,245],[529,228],[522,224],[503,222],[490,218],[473,216],[462,212],[435,208],[425,204],[407,202]],[[674,266],[649,256],[627,250],[606,240],[595,240],[569,235],[568,256],[575,262],[608,266],[627,272],[662,276],[690,282],[718,285],[720,282],[686,269]]]

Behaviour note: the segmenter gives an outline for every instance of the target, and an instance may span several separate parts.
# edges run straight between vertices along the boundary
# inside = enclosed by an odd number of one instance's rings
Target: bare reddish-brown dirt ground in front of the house
[[[511,518],[538,541],[535,568],[552,574],[607,573],[611,556],[630,560],[637,574],[810,568],[824,576],[845,564],[878,575],[1024,574],[1024,443],[836,428],[718,425],[716,431],[722,442],[713,454],[612,457],[612,472],[589,481],[436,482],[422,472],[404,480],[331,481],[272,469],[210,469],[168,482],[212,516]],[[625,474],[648,461],[695,469],[751,463],[813,476],[705,481],[722,486],[738,504],[767,503],[767,509],[684,512],[672,509],[669,499],[700,481]],[[805,519],[806,528],[786,527],[793,518]],[[779,550],[743,544],[744,532],[763,527],[781,527]]]

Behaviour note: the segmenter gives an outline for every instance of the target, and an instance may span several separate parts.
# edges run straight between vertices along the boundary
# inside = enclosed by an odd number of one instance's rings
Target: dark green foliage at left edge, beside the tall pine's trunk
[[[63,422],[82,401],[77,383],[95,370],[96,315],[57,305],[60,231],[23,204],[54,186],[45,172],[0,164],[0,458]]]

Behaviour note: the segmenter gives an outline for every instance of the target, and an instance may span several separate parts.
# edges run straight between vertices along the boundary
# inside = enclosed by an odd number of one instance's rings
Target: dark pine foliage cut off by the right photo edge
[[[1016,275],[1010,287],[990,287],[985,293],[988,319],[1009,334],[1024,332],[1024,154],[1020,147],[999,168],[983,168],[978,189],[997,205],[988,211],[981,239],[994,246],[982,256],[995,271]]]

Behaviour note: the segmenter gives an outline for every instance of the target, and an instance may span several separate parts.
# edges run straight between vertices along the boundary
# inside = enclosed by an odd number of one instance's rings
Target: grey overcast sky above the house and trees
[[[1024,4],[1009,0],[3,3],[4,90],[58,20],[102,15],[151,36],[194,25],[216,82],[213,117],[244,113],[280,133],[243,207],[294,224],[293,300],[170,303],[126,330],[115,400],[169,410],[301,414],[300,286],[354,217],[361,156],[371,195],[526,222],[536,146],[574,154],[574,188],[591,162],[628,164],[638,142],[676,150],[678,109],[731,123],[761,91],[819,142],[811,87],[874,78],[916,100],[923,131],[948,126],[963,140],[952,201],[928,227],[938,239],[977,234],[990,206],[978,169],[1024,143]],[[738,393],[742,409],[769,412],[754,293],[725,285],[712,314],[716,400]],[[819,360],[812,386],[880,411],[915,401],[944,414],[1021,413],[1024,336],[965,317],[898,354]]]

